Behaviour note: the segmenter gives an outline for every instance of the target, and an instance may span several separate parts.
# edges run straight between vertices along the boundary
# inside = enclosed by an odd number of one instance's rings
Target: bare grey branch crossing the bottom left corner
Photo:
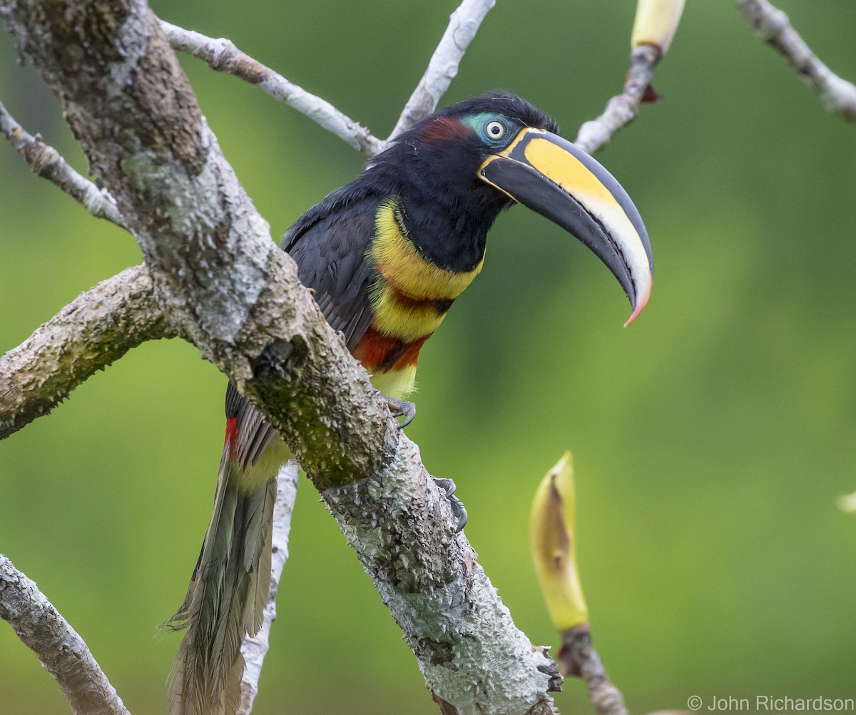
[[[31,581],[0,554],[0,618],[39,656],[72,712],[128,715],[86,643]]]

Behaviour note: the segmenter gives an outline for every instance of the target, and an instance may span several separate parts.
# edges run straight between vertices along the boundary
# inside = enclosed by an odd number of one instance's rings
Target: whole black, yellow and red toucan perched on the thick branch
[[[405,422],[419,350],[479,275],[488,230],[523,204],[580,239],[630,299],[651,294],[651,244],[609,172],[510,92],[468,99],[393,139],[360,177],[288,229],[298,265],[390,409]],[[232,715],[241,702],[241,641],[261,625],[270,581],[276,474],[291,457],[276,429],[232,384],[211,524],[187,597],[169,620],[187,628],[170,715]]]

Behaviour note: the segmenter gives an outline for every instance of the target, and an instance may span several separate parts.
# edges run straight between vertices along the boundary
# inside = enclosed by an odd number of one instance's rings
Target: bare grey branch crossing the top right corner
[[[856,86],[842,80],[811,51],[794,30],[782,10],[767,0],[735,0],[737,9],[752,23],[758,38],[776,48],[790,62],[805,82],[820,96],[823,106],[856,122]]]

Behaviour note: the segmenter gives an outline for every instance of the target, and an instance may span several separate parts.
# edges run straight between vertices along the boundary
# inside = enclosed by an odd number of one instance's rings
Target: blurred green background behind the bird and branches
[[[598,158],[651,234],[645,313],[582,245],[526,210],[425,347],[407,429],[454,477],[467,536],[516,623],[553,643],[529,500],[574,452],[580,567],[597,648],[631,712],[690,695],[854,697],[856,137],[732,3],[691,2],[645,106]],[[856,3],[782,2],[856,79]],[[153,3],[385,136],[455,2]],[[508,88],[573,139],[621,87],[633,3],[497,3],[444,103]],[[274,235],[353,179],[357,152],[205,64],[181,62]],[[56,101],[0,35],[0,99],[81,171]],[[0,350],[140,261],[0,145]],[[163,711],[223,444],[225,380],[179,340],[134,350],[0,445],[0,552],[86,638],[134,713]],[[302,480],[280,618],[254,712],[433,713],[413,655]],[[589,712],[580,682],[557,703]],[[0,627],[0,712],[67,712]]]

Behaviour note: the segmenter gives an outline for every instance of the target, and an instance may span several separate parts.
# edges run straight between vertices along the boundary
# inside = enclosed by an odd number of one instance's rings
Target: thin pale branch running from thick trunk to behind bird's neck
[[[272,98],[297,109],[300,114],[318,122],[328,132],[344,139],[354,149],[373,157],[383,148],[380,139],[372,136],[366,127],[344,115],[326,100],[306,92],[300,86],[285,79],[282,74],[265,67],[258,60],[241,52],[226,38],[210,38],[193,30],[185,30],[166,21],[160,21],[163,32],[174,50],[187,52],[208,62],[211,69],[240,77],[250,84],[258,85]]]

